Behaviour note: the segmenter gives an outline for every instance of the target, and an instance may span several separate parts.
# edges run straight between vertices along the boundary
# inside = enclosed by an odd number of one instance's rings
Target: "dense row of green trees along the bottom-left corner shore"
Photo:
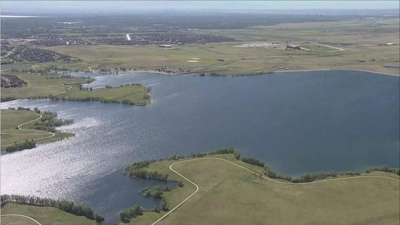
[[[23,195],[0,195],[0,205],[6,203],[54,207],[73,215],[84,216],[88,219],[96,220],[98,223],[104,221],[104,217],[100,214],[93,213],[93,210],[90,207],[85,205],[76,205],[72,201],[60,201],[50,198]]]

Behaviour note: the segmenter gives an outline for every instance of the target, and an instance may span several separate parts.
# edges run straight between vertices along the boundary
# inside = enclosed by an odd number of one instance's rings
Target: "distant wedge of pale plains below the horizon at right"
[[[399,42],[399,20],[342,20],[340,22],[281,23],[247,29],[197,30],[194,32],[234,37],[244,41],[321,42],[353,45]],[[322,44],[322,43],[321,43]]]

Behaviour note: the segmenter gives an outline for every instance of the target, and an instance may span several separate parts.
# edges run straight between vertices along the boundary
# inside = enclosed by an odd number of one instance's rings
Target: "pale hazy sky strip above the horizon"
[[[160,10],[160,9],[398,9],[400,0],[0,0],[1,11],[46,12],[48,10]]]

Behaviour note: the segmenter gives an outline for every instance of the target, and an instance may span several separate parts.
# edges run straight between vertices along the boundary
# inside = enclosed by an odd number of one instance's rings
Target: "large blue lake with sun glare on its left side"
[[[138,190],[156,181],[122,175],[131,161],[232,146],[283,174],[399,167],[398,76],[334,70],[240,77],[74,75],[95,77],[86,84],[94,88],[151,86],[153,103],[2,103],[74,119],[60,130],[76,137],[2,155],[1,194],[84,203],[113,224],[122,209],[155,204]]]

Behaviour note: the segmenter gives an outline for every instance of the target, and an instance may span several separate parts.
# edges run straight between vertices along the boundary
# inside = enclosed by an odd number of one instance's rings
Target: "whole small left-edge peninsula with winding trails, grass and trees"
[[[8,110],[0,110],[0,117],[2,117],[0,150],[7,152],[32,149],[37,143],[58,141],[74,136],[72,133],[60,133],[56,129],[56,127],[74,123],[72,119],[57,119],[56,112],[41,111],[38,108],[31,110],[24,107],[9,107]]]

